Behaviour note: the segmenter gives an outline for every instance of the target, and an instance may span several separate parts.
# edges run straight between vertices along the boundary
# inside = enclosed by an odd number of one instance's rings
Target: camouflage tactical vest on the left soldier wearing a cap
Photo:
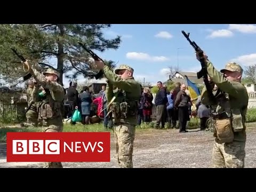
[[[45,90],[45,96],[39,101],[38,119],[47,120],[62,117],[61,102],[52,99],[50,90]]]

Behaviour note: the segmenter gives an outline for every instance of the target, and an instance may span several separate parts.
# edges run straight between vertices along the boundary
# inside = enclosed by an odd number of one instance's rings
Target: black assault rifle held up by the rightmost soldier
[[[186,37],[187,41],[190,43],[190,45],[194,48],[194,50],[198,53],[199,57],[200,57],[200,63],[201,63],[201,67],[202,69],[200,71],[197,72],[197,78],[202,78],[204,79],[204,84],[205,87],[207,89],[207,92],[209,94],[209,99],[210,101],[214,101],[214,95],[212,93],[212,87],[210,85],[210,82],[208,81],[208,76],[207,76],[207,68],[205,65],[205,60],[203,58],[203,50],[193,41],[190,40],[189,38],[189,34],[190,33],[185,33],[185,31],[181,31],[181,33]]]

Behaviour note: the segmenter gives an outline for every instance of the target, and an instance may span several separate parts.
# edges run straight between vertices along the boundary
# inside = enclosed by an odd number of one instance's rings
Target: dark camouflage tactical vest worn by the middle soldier
[[[124,90],[118,90],[115,101],[110,105],[110,111],[116,122],[134,117],[138,111],[138,100],[127,98]]]

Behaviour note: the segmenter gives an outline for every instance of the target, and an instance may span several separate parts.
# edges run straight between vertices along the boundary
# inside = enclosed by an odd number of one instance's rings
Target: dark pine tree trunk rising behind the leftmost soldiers
[[[58,60],[58,65],[57,65],[57,70],[60,73],[60,78],[59,78],[59,83],[63,86],[63,64],[64,64],[64,35],[65,35],[65,29],[63,24],[57,24],[60,33],[59,33],[59,38],[58,38],[58,55],[57,55],[57,60]]]

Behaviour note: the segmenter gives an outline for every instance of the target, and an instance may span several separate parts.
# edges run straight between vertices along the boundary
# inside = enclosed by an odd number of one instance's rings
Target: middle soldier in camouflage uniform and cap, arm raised
[[[114,73],[101,61],[95,61],[94,64],[94,68],[102,69],[108,79],[106,97],[108,111],[113,114],[117,162],[121,168],[132,168],[140,84],[134,80],[133,69],[127,65],[119,66]]]

